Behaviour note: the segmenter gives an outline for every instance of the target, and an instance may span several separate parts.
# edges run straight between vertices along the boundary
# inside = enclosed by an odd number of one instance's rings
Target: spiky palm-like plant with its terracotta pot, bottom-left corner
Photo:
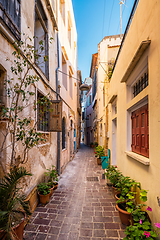
[[[19,187],[25,168],[12,168],[0,182],[0,239],[23,239],[24,221],[30,215],[28,202]]]

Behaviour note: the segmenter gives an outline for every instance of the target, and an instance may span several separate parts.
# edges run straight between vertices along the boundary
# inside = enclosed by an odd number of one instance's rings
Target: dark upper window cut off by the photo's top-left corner
[[[21,1],[0,0],[0,18],[2,18],[15,37],[20,40]]]

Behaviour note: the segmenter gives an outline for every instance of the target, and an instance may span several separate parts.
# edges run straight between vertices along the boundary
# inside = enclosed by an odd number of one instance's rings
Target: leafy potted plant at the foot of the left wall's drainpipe
[[[51,168],[47,169],[48,172],[44,174],[49,177],[48,185],[50,186],[50,196],[53,194],[53,189],[58,187],[58,172],[56,171],[56,167],[52,165]]]

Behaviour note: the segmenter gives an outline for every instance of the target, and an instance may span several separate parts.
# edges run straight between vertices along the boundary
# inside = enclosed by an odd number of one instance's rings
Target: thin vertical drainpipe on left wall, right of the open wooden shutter
[[[58,67],[56,68],[56,92],[57,92],[57,100],[58,100],[58,70],[60,67],[59,63],[59,36],[57,32],[57,60],[58,60]],[[57,132],[57,172],[60,175],[60,132]]]

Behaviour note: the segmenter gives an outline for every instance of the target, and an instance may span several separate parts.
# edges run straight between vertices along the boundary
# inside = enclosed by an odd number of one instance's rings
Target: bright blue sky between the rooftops
[[[78,69],[82,80],[89,76],[92,54],[104,36],[120,34],[119,0],[72,0],[77,27]],[[122,33],[125,31],[134,0],[122,5]]]

